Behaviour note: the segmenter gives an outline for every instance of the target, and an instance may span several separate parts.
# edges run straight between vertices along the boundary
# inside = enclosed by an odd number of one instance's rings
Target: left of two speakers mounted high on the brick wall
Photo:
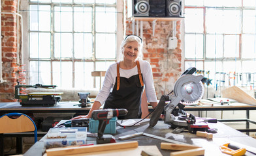
[[[131,17],[145,17],[149,16],[150,0],[128,0],[127,1],[127,16]]]

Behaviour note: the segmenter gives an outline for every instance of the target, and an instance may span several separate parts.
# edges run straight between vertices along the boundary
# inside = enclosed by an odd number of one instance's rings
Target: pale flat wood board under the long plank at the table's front
[[[116,150],[110,150],[110,151],[97,151],[92,153],[82,153],[82,154],[75,154],[75,155],[69,155],[69,156],[85,156],[85,155],[91,155],[91,156],[113,156],[113,155],[121,155],[121,156],[131,156],[131,155],[140,155],[140,153],[143,151],[149,151],[150,153],[154,155],[161,156],[161,152],[157,148],[157,146],[138,146],[137,148],[127,148],[127,149],[116,149]],[[46,153],[44,153],[44,156],[47,156]]]

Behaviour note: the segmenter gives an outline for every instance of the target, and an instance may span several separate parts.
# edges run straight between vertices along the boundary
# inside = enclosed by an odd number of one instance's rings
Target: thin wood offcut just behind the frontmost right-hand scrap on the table
[[[170,149],[170,150],[187,150],[187,149],[195,149],[195,148],[201,148],[199,146],[193,146],[193,145],[184,145],[184,144],[172,144],[167,142],[161,142],[161,149]]]

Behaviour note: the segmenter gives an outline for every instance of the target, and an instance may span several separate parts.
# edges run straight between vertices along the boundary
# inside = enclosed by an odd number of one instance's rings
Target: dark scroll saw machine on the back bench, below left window
[[[18,85],[15,86],[15,98],[19,99],[20,105],[53,106],[61,100],[63,92],[31,92],[20,94],[20,88],[47,88],[54,89],[56,85]]]

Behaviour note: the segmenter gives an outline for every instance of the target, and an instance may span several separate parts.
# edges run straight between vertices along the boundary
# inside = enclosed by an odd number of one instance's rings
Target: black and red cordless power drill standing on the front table
[[[91,113],[91,118],[93,120],[99,120],[97,144],[105,144],[110,142],[116,142],[114,136],[103,135],[106,125],[109,120],[115,116],[125,116],[127,114],[126,109],[103,109],[103,110],[93,110]]]

